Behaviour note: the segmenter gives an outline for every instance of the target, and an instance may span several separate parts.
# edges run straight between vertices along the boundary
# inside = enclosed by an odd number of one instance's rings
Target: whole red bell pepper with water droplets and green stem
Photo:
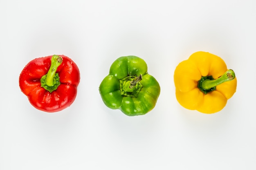
[[[35,108],[57,112],[70,106],[80,82],[78,66],[65,55],[51,55],[30,61],[19,77],[21,91]]]

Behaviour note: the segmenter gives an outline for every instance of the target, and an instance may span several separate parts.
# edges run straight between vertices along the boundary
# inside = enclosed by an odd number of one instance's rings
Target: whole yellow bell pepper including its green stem
[[[201,113],[216,113],[236,92],[237,80],[220,57],[198,51],[177,65],[174,84],[181,106]]]

